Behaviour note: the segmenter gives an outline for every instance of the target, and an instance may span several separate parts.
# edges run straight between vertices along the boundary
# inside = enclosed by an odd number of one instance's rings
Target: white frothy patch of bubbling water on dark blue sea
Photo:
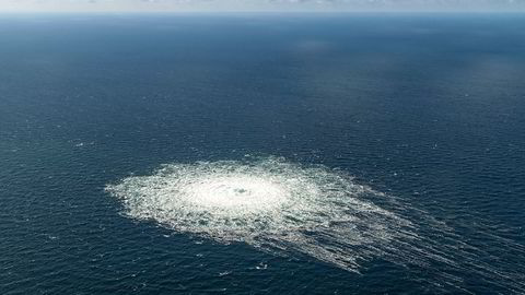
[[[409,221],[369,201],[383,193],[345,173],[278,157],[168,164],[106,190],[133,219],[220,243],[299,251],[350,271],[415,236]]]

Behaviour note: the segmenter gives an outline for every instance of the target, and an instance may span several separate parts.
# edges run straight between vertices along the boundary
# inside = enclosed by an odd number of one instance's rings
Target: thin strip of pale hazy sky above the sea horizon
[[[525,0],[0,0],[0,11],[525,11]]]

